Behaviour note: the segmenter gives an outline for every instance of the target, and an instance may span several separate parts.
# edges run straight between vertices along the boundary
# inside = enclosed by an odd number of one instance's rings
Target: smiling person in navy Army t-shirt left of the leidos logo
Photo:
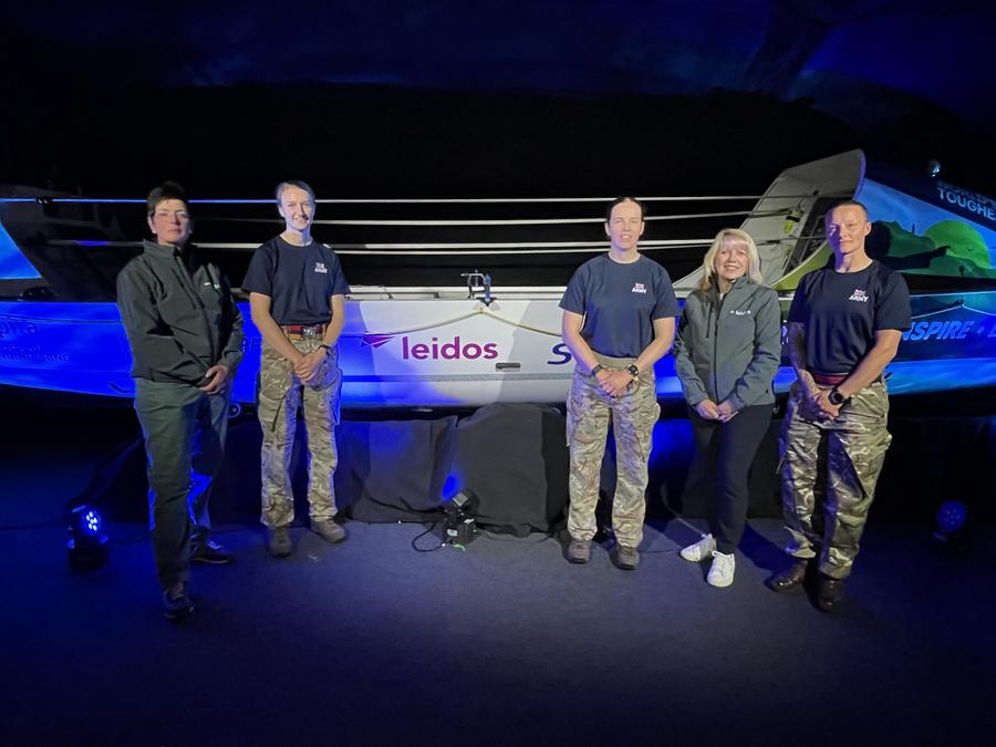
[[[268,550],[278,558],[293,551],[290,459],[299,405],[308,427],[311,529],[329,542],[345,539],[333,520],[332,478],[342,387],[336,343],[350,289],[335,252],[311,238],[314,208],[314,191],[303,181],[277,186],[286,230],[256,250],[242,281],[263,339],[257,408],[263,435],[262,522]]]

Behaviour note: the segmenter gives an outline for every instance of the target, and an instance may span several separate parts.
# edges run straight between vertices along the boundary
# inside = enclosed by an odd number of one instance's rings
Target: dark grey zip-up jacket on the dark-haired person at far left
[[[154,241],[117,276],[117,307],[132,347],[132,376],[200,386],[212,365],[242,360],[242,314],[221,271]],[[189,267],[189,269],[188,269]]]

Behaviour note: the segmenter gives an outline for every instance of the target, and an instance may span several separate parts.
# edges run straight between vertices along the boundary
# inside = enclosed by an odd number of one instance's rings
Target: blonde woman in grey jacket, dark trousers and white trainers
[[[707,580],[733,583],[734,550],[747,521],[747,474],[771,421],[771,381],[781,357],[778,294],[760,284],[760,258],[748,234],[726,228],[703,261],[699,288],[685,300],[674,346],[675,367],[706,475],[709,533],[682,550],[713,558]]]

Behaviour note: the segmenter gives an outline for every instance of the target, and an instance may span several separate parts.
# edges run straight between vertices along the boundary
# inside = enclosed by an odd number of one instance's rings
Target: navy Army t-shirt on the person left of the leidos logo
[[[242,290],[269,295],[278,324],[324,324],[332,315],[329,299],[345,295],[350,287],[329,247],[318,241],[295,247],[274,236],[252,255]]]

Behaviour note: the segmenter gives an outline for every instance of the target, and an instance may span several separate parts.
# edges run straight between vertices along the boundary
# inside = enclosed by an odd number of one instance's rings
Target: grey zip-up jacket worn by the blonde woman
[[[719,300],[716,288],[685,299],[674,343],[675,370],[693,407],[729,400],[736,409],[775,402],[781,359],[778,293],[739,278]]]

